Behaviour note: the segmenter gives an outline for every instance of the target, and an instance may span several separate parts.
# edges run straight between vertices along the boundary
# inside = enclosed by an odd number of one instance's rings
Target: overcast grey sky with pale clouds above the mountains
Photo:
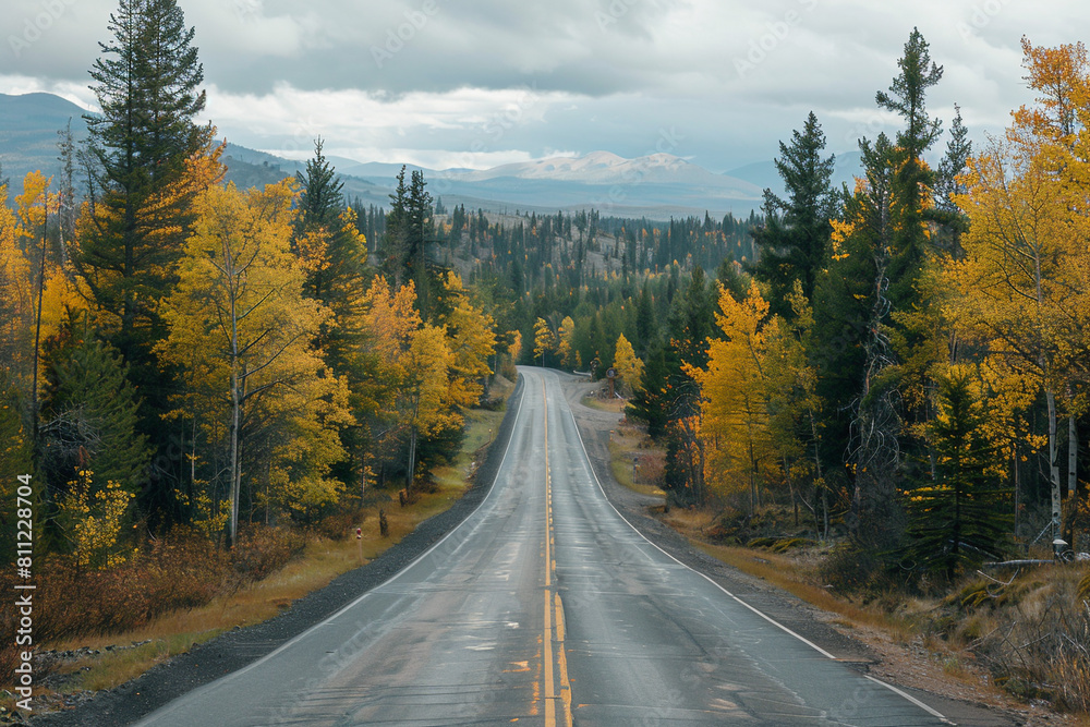
[[[712,171],[776,156],[813,110],[829,150],[893,130],[874,93],[918,26],[929,110],[980,138],[1031,100],[1019,39],[1090,32],[1077,0],[179,0],[209,119],[245,146],[431,168],[597,149]],[[117,0],[3,0],[0,93],[93,108]]]

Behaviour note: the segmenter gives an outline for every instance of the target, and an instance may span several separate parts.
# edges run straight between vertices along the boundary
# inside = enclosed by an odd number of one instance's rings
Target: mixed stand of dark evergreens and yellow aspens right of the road
[[[1090,86],[1082,45],[1022,48],[1036,101],[983,148],[956,112],[929,163],[943,69],[919,32],[875,96],[903,128],[860,140],[855,189],[813,113],[780,144],[754,258],[693,270],[645,349],[630,414],[676,502],[790,504],[909,581],[1079,546]]]

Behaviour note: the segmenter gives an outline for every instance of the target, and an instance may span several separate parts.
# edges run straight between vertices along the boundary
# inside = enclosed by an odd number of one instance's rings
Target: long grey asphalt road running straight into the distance
[[[496,482],[385,584],[141,725],[937,725],[644,540],[555,374]]]

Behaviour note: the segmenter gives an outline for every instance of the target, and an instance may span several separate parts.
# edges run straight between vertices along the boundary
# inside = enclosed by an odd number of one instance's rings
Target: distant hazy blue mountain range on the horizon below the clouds
[[[0,94],[0,170],[21,180],[32,170],[55,174],[57,132],[71,119],[73,135],[87,135],[84,111],[51,94],[10,96]],[[304,168],[304,162],[228,143],[225,152],[228,179],[240,186],[276,182]],[[400,165],[360,162],[329,157],[344,183],[349,199],[364,205],[389,204]],[[850,181],[858,173],[858,154],[838,158],[834,182]],[[580,157],[553,157],[508,163],[493,169],[420,169],[434,197],[448,208],[492,211],[547,211],[598,209],[603,216],[668,219],[708,213],[748,216],[771,187],[782,194],[782,181],[773,161],[748,165],[728,173],[714,173],[669,154],[627,159],[609,152]],[[16,185],[17,186],[17,185]]]

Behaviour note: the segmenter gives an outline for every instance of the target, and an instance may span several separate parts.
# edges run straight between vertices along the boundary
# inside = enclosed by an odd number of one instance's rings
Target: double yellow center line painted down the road
[[[564,650],[564,605],[560,594],[554,592],[556,560],[553,550],[556,538],[553,533],[553,476],[548,467],[548,399],[545,397],[545,379],[542,379],[542,398],[545,401],[545,632],[542,638],[545,655],[545,725],[554,727],[557,724],[559,702],[562,724],[571,727],[571,683],[568,681],[568,658]]]

